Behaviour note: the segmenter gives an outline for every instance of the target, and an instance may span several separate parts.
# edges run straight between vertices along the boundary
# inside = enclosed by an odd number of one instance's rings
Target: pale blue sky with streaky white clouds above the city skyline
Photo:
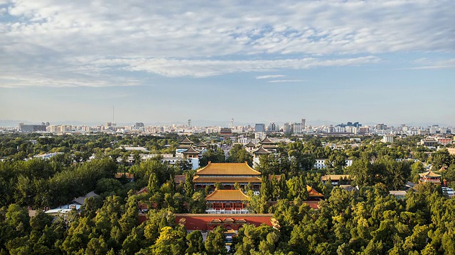
[[[0,0],[0,120],[455,126],[455,1]]]

